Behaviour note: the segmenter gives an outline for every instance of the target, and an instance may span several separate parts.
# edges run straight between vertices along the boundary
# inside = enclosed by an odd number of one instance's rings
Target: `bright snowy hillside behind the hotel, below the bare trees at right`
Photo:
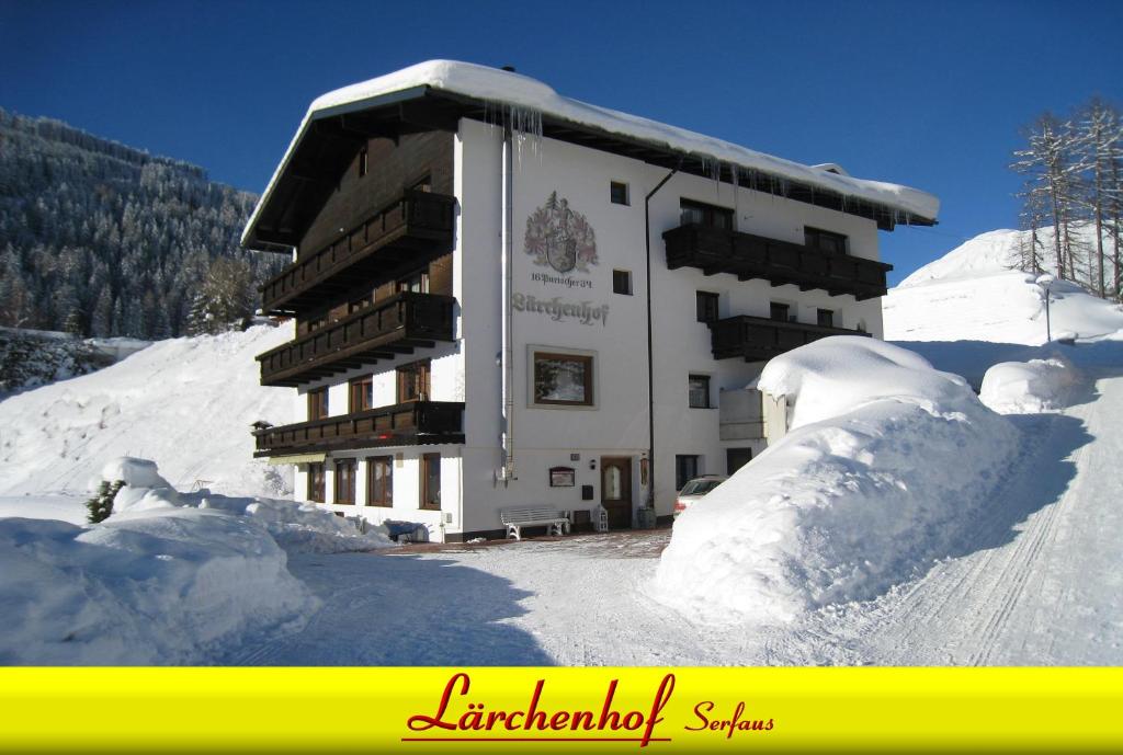
[[[885,339],[1044,343],[1042,289],[1034,276],[1011,269],[1024,233],[983,233],[905,278],[883,300]],[[1052,285],[1050,319],[1053,338],[1097,338],[1123,329],[1119,305],[1063,280]]]

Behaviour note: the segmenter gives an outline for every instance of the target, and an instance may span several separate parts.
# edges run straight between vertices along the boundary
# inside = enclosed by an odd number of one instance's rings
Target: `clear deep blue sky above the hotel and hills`
[[[318,94],[419,61],[512,64],[568,96],[940,196],[883,236],[896,282],[1017,222],[1019,128],[1123,101],[1123,2],[0,0],[0,107],[261,192]]]

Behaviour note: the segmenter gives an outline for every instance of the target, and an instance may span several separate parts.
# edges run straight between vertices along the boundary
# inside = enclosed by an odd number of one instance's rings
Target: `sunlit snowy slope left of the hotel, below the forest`
[[[292,422],[292,395],[258,385],[254,357],[289,329],[159,341],[124,360],[0,402],[0,495],[85,491],[107,459],[154,459],[181,490],[284,497],[253,459],[249,425]]]

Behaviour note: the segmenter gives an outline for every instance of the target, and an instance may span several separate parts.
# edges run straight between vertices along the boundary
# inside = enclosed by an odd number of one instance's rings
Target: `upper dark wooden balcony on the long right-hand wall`
[[[763,278],[774,286],[794,284],[800,291],[820,288],[831,296],[851,294],[858,301],[884,296],[885,274],[893,269],[873,259],[693,223],[670,229],[663,239],[672,270],[695,267],[706,275]]]

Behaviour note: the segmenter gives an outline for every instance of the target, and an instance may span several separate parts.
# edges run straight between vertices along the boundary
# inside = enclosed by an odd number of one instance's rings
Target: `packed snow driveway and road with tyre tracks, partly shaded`
[[[1119,370],[1116,370],[1117,372]],[[957,553],[867,604],[783,627],[697,626],[645,596],[667,532],[421,555],[301,555],[325,601],[247,664],[1120,664],[1123,377],[1026,439]],[[1093,400],[1093,398],[1095,400]]]

